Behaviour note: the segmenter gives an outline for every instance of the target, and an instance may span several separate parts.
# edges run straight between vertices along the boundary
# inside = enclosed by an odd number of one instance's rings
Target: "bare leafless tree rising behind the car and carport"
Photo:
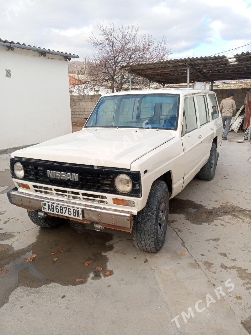
[[[149,35],[139,36],[139,27],[133,24],[116,27],[114,23],[98,26],[99,36],[87,40],[94,51],[87,59],[88,75],[81,91],[88,93],[102,87],[103,91],[118,92],[129,88],[129,74],[120,69],[121,65],[138,62],[166,60],[170,54],[166,37],[161,40]],[[133,88],[144,88],[148,82],[132,75]]]

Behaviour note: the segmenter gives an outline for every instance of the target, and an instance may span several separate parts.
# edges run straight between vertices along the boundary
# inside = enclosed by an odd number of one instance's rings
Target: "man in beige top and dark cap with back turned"
[[[236,112],[233,92],[229,92],[228,97],[222,100],[221,105],[220,105],[220,111],[221,111],[221,116],[222,116],[222,123],[223,123],[223,126],[225,126],[222,139],[224,141],[227,141],[230,123],[231,123],[233,114]]]

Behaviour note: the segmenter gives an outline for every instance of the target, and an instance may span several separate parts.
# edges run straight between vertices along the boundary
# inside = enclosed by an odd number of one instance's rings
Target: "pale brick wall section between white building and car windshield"
[[[91,114],[100,94],[70,95],[72,122],[82,122]]]

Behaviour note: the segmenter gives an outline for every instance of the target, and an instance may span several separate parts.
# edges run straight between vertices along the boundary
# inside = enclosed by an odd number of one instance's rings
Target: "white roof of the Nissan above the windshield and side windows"
[[[121,91],[116,93],[103,94],[102,96],[113,96],[113,95],[127,95],[127,94],[180,94],[189,95],[195,93],[211,93],[216,94],[214,91],[207,89],[193,89],[193,88],[152,88],[152,89],[135,89],[131,91]]]

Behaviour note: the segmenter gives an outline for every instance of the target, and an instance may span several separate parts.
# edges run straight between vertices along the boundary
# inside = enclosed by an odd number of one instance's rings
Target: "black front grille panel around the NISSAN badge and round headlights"
[[[77,190],[120,194],[116,191],[113,180],[120,173],[127,174],[133,181],[133,189],[127,196],[141,196],[140,172],[125,169],[115,169],[112,167],[100,167],[96,169],[91,165],[80,165],[63,162],[45,161],[30,158],[11,158],[10,169],[12,178],[18,179],[14,174],[13,166],[15,162],[20,162],[24,168],[24,178],[22,181],[59,186],[64,188],[74,188]],[[47,170],[65,173],[78,173],[79,181],[54,179],[47,176]],[[49,191],[49,190],[48,190]]]

